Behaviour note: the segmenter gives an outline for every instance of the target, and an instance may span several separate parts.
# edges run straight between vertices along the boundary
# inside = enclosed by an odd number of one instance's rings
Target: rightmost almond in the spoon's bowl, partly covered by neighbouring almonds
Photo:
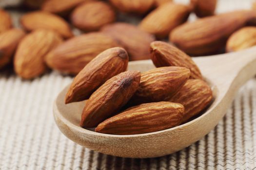
[[[182,122],[186,122],[205,109],[213,99],[209,85],[199,79],[190,79],[169,101],[178,102],[185,107]]]

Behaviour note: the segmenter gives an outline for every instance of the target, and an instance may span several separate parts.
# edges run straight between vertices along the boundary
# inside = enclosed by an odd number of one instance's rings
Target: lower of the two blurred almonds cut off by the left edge
[[[25,36],[20,29],[10,29],[0,34],[0,68],[10,63],[20,40]]]

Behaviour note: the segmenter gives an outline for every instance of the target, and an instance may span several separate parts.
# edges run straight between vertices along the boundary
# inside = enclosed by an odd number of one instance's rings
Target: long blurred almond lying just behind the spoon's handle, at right
[[[227,38],[255,17],[254,11],[244,10],[197,19],[174,29],[170,41],[190,55],[210,54],[225,47]]]

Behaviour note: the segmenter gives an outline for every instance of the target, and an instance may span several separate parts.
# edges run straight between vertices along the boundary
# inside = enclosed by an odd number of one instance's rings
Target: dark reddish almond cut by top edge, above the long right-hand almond
[[[194,6],[197,17],[207,17],[214,15],[217,0],[190,0]]]

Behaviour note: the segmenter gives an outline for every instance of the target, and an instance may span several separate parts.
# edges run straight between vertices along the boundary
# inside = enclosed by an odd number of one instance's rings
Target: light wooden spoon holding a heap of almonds
[[[212,86],[214,101],[198,118],[180,126],[141,135],[107,135],[79,126],[85,102],[64,104],[66,87],[54,103],[60,131],[74,142],[100,153],[131,157],[157,157],[177,152],[208,134],[223,118],[236,91],[256,74],[256,47],[245,51],[194,58]],[[155,68],[150,60],[129,63],[130,70]]]

